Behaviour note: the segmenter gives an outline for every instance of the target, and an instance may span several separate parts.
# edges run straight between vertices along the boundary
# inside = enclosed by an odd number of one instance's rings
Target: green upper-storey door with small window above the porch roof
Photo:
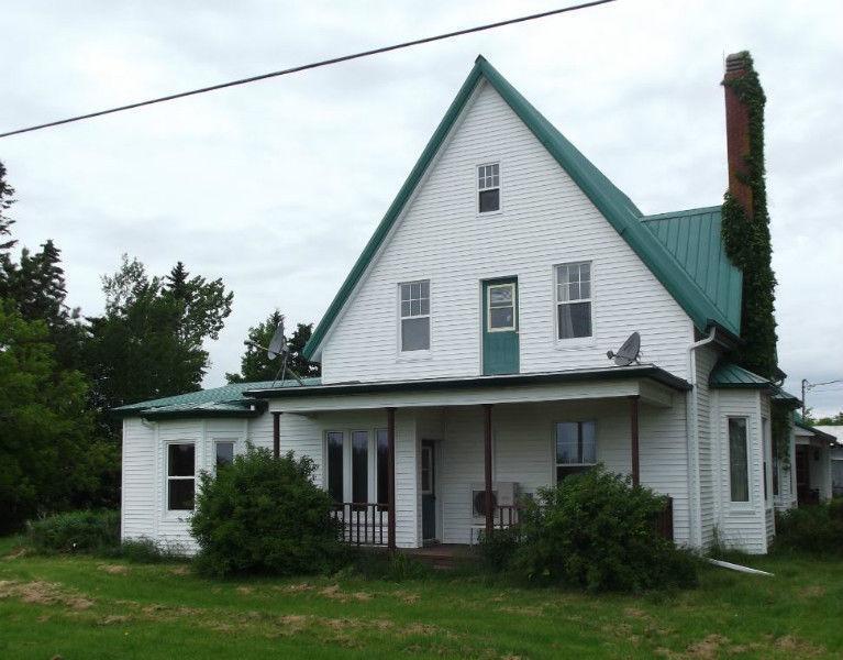
[[[518,279],[482,283],[482,373],[517,374]]]

